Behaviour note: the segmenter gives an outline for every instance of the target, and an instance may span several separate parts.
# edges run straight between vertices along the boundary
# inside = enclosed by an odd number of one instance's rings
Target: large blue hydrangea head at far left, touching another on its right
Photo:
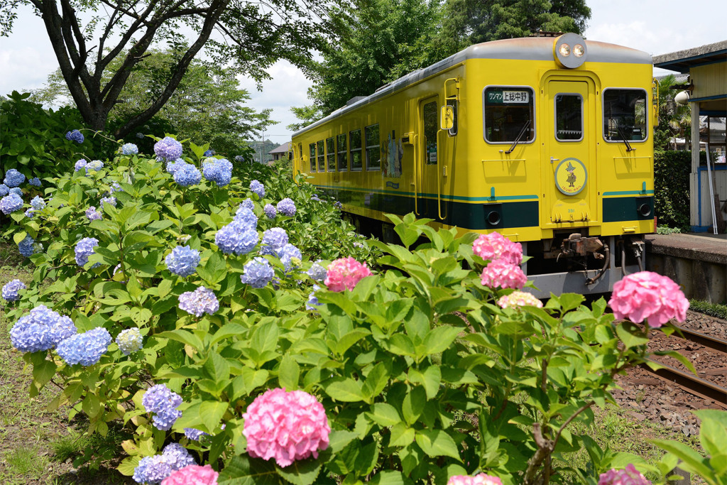
[[[18,318],[10,329],[10,340],[20,352],[37,352],[54,348],[73,334],[76,334],[76,326],[71,318],[39,305],[28,315]]]

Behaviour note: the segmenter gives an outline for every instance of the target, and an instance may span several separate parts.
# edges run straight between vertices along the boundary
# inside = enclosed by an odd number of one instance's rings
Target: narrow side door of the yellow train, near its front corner
[[[417,212],[419,217],[430,217],[438,220],[438,185],[437,167],[439,161],[438,144],[438,97],[430,97],[419,102],[419,156]]]

